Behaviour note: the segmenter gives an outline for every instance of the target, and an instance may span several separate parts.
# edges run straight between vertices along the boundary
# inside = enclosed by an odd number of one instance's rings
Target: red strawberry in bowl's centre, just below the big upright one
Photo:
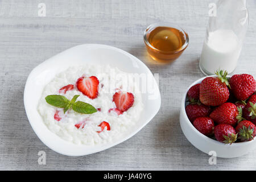
[[[228,124],[236,126],[238,122],[238,109],[233,103],[226,102],[210,113],[210,118],[212,118],[218,124]],[[241,114],[242,116],[242,114]]]

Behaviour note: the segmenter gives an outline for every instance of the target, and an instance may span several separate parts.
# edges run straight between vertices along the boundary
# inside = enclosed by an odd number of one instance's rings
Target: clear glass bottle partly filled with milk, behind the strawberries
[[[199,66],[205,75],[214,75],[218,69],[230,74],[237,67],[248,27],[246,0],[219,0],[214,7]]]

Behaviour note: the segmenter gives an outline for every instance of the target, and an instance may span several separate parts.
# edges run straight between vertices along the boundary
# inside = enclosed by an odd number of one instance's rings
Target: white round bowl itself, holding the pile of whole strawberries
[[[209,154],[210,151],[215,151],[216,155],[220,158],[236,158],[254,150],[256,146],[255,140],[251,140],[249,142],[232,143],[231,145],[224,144],[201,134],[189,121],[185,111],[187,92],[191,86],[201,83],[204,78],[206,77],[200,78],[199,80],[193,82],[193,84],[191,84],[184,93],[181,101],[180,126],[185,137],[200,151],[203,151],[206,154]]]

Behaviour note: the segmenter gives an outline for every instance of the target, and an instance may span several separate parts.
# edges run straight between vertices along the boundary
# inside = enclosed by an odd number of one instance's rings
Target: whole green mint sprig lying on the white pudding
[[[79,95],[75,95],[71,101],[66,97],[60,95],[49,95],[46,97],[46,102],[49,105],[64,108],[64,113],[69,110],[71,107],[74,111],[81,114],[92,114],[96,113],[97,110],[90,104],[82,101],[77,101]]]

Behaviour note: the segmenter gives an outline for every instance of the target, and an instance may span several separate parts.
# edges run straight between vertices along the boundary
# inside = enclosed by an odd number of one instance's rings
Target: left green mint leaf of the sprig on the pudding
[[[46,102],[49,105],[59,108],[64,108],[70,103],[66,97],[60,95],[49,95],[46,97]]]

